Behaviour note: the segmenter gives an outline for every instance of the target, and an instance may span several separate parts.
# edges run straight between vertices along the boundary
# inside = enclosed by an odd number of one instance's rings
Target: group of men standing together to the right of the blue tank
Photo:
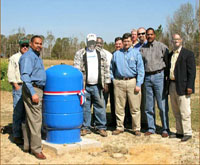
[[[86,48],[76,52],[74,67],[84,75],[86,103],[81,135],[96,133],[107,136],[106,105],[110,93],[112,135],[124,132],[125,107],[128,102],[132,132],[141,136],[141,126],[147,125],[145,136],[156,133],[155,101],[159,109],[163,138],[192,137],[190,95],[194,93],[196,66],[194,54],[182,47],[178,33],[172,36],[173,50],[156,41],[153,28],[133,29],[115,39],[115,51],[103,49],[103,39],[91,33]],[[176,119],[176,134],[170,132],[168,95]],[[94,120],[92,121],[91,107]]]

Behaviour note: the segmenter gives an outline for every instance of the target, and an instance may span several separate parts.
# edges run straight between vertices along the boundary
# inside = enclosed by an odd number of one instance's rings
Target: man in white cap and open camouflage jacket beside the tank
[[[108,91],[110,83],[110,71],[107,64],[106,54],[98,51],[96,35],[90,33],[86,38],[86,48],[76,52],[74,67],[84,75],[86,102],[83,107],[84,120],[81,135],[91,133],[91,103],[95,115],[94,127],[101,136],[106,137],[106,110],[103,91]]]

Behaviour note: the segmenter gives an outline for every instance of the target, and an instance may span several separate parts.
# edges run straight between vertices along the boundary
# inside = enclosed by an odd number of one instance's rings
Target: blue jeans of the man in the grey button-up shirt
[[[145,75],[146,89],[146,107],[145,114],[148,123],[148,132],[155,133],[155,110],[154,97],[157,101],[158,109],[160,110],[160,118],[162,122],[162,132],[167,133],[169,130],[168,119],[168,97],[164,95],[164,72],[152,75]]]

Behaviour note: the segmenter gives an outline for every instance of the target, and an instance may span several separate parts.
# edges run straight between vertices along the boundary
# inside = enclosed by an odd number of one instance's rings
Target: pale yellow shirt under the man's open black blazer
[[[182,46],[180,46],[176,51],[173,52],[173,55],[171,58],[170,80],[175,80],[174,69],[175,69],[176,61],[178,59],[181,48]]]

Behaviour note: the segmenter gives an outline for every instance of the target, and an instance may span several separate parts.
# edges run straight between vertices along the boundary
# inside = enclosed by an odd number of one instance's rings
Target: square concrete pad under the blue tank
[[[53,144],[42,140],[42,144],[44,148],[48,148],[55,152],[57,155],[62,155],[64,153],[69,152],[77,152],[84,150],[96,150],[101,149],[101,143],[88,138],[81,138],[82,141],[73,143],[73,144]]]

